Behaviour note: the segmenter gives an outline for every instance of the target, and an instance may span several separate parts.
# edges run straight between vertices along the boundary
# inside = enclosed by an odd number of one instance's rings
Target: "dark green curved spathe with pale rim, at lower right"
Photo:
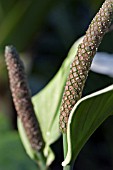
[[[63,166],[73,162],[93,132],[113,114],[113,85],[80,99],[69,116],[68,151]]]

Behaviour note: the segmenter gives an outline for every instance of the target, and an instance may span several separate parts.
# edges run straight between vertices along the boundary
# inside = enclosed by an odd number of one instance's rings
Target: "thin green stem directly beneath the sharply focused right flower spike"
[[[67,144],[67,134],[63,134],[63,150],[64,150],[64,159],[67,155],[68,144]],[[69,164],[63,167],[63,170],[72,170],[73,164]]]

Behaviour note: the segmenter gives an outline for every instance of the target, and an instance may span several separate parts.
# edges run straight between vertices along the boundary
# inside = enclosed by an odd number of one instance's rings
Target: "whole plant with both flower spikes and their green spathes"
[[[19,54],[13,46],[5,48],[19,133],[26,152],[42,170],[49,169],[55,159],[50,145],[60,135],[63,136],[63,169],[72,169],[84,144],[113,114],[113,85],[82,97],[93,57],[109,31],[112,17],[113,0],[105,0],[85,36],[72,46],[58,73],[32,98]]]

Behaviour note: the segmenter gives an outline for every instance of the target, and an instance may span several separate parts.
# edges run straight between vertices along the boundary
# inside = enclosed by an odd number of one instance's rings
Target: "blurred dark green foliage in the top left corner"
[[[18,50],[25,49],[40,31],[42,23],[55,1],[15,1],[7,8],[0,1],[2,18],[0,22],[0,45],[12,43]],[[42,10],[43,9],[43,10]]]

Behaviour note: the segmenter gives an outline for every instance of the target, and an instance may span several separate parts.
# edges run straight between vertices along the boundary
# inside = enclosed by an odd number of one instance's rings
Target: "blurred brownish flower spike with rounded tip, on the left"
[[[5,60],[9,74],[10,89],[17,114],[22,121],[31,147],[35,151],[40,151],[44,147],[44,141],[31,102],[24,65],[13,46],[6,46]]]

